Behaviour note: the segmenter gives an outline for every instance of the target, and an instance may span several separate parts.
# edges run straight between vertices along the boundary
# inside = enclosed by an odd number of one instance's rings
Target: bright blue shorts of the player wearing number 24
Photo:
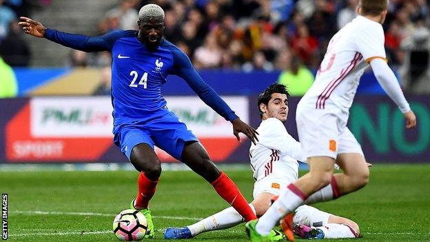
[[[156,145],[181,161],[181,154],[187,141],[198,139],[187,129],[185,123],[179,121],[178,117],[168,110],[150,120],[123,125],[114,136],[114,143],[121,148],[121,152],[129,161],[132,149],[139,143],[147,143],[152,149]]]

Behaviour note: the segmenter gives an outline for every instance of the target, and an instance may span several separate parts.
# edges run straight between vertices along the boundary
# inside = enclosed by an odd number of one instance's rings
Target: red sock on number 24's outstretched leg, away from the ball
[[[216,192],[243,216],[245,221],[257,219],[256,214],[252,212],[246,199],[240,193],[234,182],[229,179],[224,172],[221,171],[221,176],[211,184]]]

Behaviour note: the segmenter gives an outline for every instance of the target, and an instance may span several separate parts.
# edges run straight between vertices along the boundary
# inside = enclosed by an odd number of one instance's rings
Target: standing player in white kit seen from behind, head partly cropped
[[[360,144],[347,128],[347,119],[360,77],[369,64],[382,88],[404,114],[406,128],[415,127],[415,114],[387,65],[381,25],[387,5],[387,0],[360,0],[358,17],[331,38],[316,79],[296,112],[298,137],[309,173],[289,184],[258,221],[247,223],[251,241],[267,241],[279,219],[303,203],[336,199],[367,184],[369,169]],[[343,173],[333,174],[335,162]],[[283,219],[286,234],[291,234],[290,218],[291,215]]]

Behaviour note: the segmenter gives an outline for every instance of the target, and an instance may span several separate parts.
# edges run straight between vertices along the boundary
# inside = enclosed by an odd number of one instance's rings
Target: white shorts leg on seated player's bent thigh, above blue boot
[[[320,227],[329,222],[328,212],[318,210],[317,208],[301,205],[294,211],[293,224],[304,224],[307,226]]]

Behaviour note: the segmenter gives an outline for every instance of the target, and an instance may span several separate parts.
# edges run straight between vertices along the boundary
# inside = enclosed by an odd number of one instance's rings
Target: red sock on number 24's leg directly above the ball
[[[139,189],[134,203],[134,208],[144,209],[148,207],[148,203],[150,203],[152,196],[154,196],[157,183],[158,180],[151,181],[145,177],[145,173],[141,172],[141,174],[139,174],[139,179],[137,180]]]

